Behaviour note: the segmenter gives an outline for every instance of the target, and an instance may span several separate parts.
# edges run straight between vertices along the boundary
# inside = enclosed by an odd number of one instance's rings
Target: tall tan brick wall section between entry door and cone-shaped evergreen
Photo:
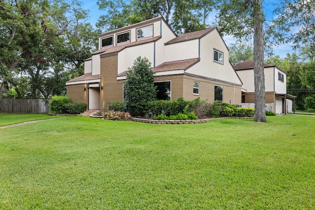
[[[123,102],[123,81],[117,81],[118,56],[100,59],[100,91],[99,109],[102,110],[108,102]],[[106,108],[105,108],[106,109]]]

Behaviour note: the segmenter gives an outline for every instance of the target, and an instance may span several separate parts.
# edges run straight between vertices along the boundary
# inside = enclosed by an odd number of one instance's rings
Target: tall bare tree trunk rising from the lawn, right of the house
[[[254,83],[255,83],[255,114],[254,121],[267,122],[265,102],[264,76],[264,32],[261,0],[253,0],[254,18]]]

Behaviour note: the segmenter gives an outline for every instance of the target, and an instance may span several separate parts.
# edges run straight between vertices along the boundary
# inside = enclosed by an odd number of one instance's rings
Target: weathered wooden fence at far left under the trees
[[[0,113],[32,113],[44,114],[49,112],[47,99],[7,99],[0,101]]]

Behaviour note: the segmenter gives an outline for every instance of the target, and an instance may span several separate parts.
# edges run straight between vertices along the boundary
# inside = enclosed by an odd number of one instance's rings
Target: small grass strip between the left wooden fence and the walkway
[[[0,113],[0,126],[17,124],[33,120],[46,120],[65,116],[49,116],[47,114],[5,114]]]

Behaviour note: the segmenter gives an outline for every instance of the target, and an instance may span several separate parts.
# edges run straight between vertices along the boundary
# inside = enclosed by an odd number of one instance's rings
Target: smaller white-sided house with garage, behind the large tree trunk
[[[243,82],[242,103],[254,103],[253,60],[237,63],[233,67]],[[296,97],[286,94],[286,73],[276,65],[264,63],[264,76],[266,103],[274,104],[274,113],[286,113],[286,98]]]

